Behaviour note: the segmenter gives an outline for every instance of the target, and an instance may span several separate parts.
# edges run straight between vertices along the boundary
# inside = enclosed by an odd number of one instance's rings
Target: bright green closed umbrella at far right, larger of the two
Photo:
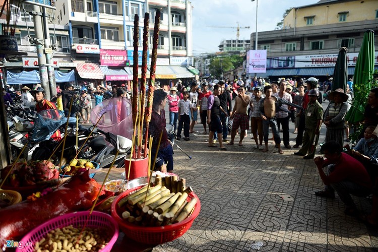
[[[371,89],[374,70],[374,31],[367,30],[363,35],[360,51],[358,53],[354,70],[353,93],[354,101],[345,119],[350,123],[363,120],[367,95]]]

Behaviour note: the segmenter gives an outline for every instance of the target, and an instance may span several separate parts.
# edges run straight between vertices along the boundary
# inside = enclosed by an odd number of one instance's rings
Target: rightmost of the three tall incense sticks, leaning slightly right
[[[156,71],[157,46],[158,46],[158,40],[159,40],[159,29],[160,29],[160,11],[157,10],[156,15],[155,15],[154,37],[152,41],[150,83],[148,85],[145,148],[147,147],[148,129],[150,126],[151,115],[152,115],[152,102],[154,100],[154,85],[155,85],[155,71]],[[147,153],[145,152],[144,157],[146,157],[146,155]]]

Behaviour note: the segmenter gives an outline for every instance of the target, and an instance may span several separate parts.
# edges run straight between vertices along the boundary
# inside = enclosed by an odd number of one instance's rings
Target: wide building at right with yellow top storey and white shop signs
[[[282,30],[258,33],[258,49],[266,49],[268,58],[267,72],[258,76],[327,79],[333,75],[340,47],[348,48],[348,75],[352,76],[364,32],[369,29],[375,31],[377,48],[376,0],[321,0],[292,8]],[[253,45],[255,38],[252,33]]]

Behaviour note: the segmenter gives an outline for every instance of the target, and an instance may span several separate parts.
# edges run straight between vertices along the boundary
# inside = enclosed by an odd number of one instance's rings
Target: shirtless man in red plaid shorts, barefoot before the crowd
[[[245,131],[248,130],[248,114],[247,114],[247,106],[249,104],[249,95],[245,94],[245,87],[241,86],[239,87],[239,94],[237,95],[235,99],[235,105],[234,109],[232,110],[232,114],[230,116],[230,119],[233,119],[232,122],[232,131],[231,131],[231,142],[229,142],[227,145],[233,145],[234,139],[236,135],[237,129],[239,127],[241,128],[240,131],[240,141],[239,146],[243,146],[242,141],[245,136]]]

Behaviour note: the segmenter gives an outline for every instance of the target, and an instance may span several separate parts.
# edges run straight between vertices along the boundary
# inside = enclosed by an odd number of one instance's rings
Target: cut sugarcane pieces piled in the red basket
[[[192,187],[177,176],[156,176],[153,186],[143,186],[118,202],[122,219],[141,226],[165,226],[191,215],[196,198],[188,198]],[[190,200],[189,200],[190,199]]]

